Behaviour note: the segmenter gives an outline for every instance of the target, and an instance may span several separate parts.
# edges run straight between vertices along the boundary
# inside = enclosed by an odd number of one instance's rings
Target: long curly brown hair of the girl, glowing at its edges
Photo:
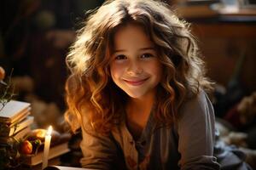
[[[114,33],[131,22],[143,26],[164,68],[156,99],[158,121],[172,123],[187,96],[212,88],[189,24],[169,6],[153,0],[107,1],[85,20],[67,55],[71,74],[66,82],[65,117],[73,131],[82,125],[109,133],[121,121],[127,95],[114,85],[109,60]]]

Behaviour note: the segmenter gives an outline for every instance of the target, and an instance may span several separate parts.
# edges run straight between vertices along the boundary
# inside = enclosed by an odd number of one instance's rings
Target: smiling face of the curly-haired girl
[[[154,96],[162,75],[154,43],[141,26],[129,24],[113,36],[110,72],[113,82],[135,99]]]

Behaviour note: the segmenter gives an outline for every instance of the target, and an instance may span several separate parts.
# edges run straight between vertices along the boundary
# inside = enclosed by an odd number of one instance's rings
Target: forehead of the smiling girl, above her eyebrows
[[[113,34],[114,48],[145,48],[152,47],[154,43],[148,36],[148,31],[138,24],[120,26]]]

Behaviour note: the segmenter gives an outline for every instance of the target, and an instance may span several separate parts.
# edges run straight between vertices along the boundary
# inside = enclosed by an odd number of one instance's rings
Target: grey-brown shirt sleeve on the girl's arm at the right
[[[219,169],[213,156],[214,112],[207,94],[201,91],[185,102],[177,122],[178,162],[182,170]]]

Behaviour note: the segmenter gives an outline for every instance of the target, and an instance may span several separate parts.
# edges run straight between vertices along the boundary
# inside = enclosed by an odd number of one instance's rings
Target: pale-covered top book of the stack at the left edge
[[[30,111],[30,104],[22,101],[10,100],[0,111],[0,123],[12,124],[25,118]]]

